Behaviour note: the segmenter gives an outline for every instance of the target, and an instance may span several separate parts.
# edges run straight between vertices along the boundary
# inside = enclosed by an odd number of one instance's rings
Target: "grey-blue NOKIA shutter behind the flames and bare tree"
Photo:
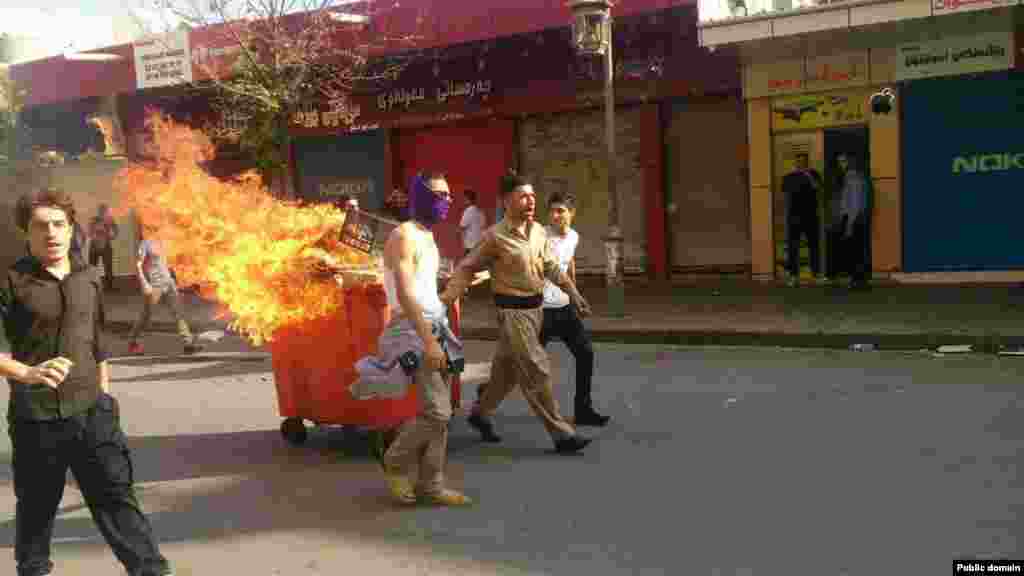
[[[306,202],[331,202],[348,195],[364,210],[381,210],[386,196],[384,136],[383,130],[371,130],[296,138],[298,197]]]

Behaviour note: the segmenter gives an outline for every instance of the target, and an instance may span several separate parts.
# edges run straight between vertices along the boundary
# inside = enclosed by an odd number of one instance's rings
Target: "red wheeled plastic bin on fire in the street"
[[[345,310],[302,326],[283,328],[270,343],[281,433],[291,444],[306,440],[305,420],[314,424],[392,428],[417,412],[415,386],[398,399],[356,400],[348,387],[355,381],[355,362],[377,353],[377,338],[390,317],[384,287],[357,284],[345,288]],[[450,321],[459,333],[459,305]],[[461,386],[452,385],[452,405],[459,407]]]

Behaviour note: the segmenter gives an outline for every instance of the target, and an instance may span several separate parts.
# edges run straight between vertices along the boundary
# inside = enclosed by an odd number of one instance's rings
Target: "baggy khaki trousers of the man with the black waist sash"
[[[541,345],[541,308],[498,308],[498,347],[490,364],[490,381],[481,384],[476,411],[489,416],[516,385],[555,442],[575,436],[562,417],[551,389],[551,364]]]

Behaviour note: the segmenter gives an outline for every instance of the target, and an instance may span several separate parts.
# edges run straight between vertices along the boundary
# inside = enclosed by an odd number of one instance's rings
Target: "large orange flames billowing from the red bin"
[[[284,326],[343,311],[344,293],[314,268],[374,268],[371,256],[337,239],[344,213],[273,198],[259,176],[237,181],[209,175],[213,158],[203,133],[153,114],[146,162],[115,180],[120,210],[134,209],[146,237],[161,240],[184,285],[224,305],[231,328],[260,344]]]

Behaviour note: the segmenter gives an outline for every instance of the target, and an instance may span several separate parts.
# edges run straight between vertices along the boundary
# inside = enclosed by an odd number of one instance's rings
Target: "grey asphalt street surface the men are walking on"
[[[179,349],[168,334],[146,343]],[[468,360],[490,349],[470,342]],[[568,408],[571,368],[552,349]],[[269,360],[230,336],[190,359],[119,358],[114,392],[178,576],[924,576],[1024,557],[1024,359],[597,349],[597,408],[614,419],[582,456],[548,453],[517,394],[497,420],[504,444],[456,418],[449,475],[469,509],[392,505],[357,431],[285,444]],[[11,574],[6,435],[0,457]],[[123,573],[72,484],[54,560],[57,575]]]

